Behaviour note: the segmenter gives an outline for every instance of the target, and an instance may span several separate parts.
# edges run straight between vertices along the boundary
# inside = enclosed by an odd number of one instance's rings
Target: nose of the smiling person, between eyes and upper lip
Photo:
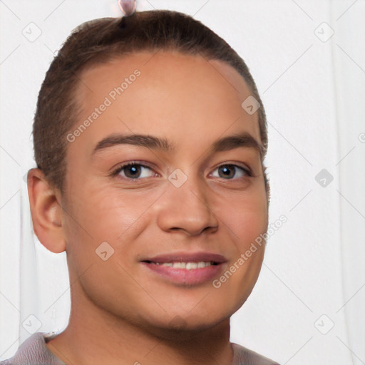
[[[158,212],[161,230],[190,236],[217,231],[218,220],[212,206],[214,196],[199,178],[189,177],[180,187],[169,182],[166,189]]]

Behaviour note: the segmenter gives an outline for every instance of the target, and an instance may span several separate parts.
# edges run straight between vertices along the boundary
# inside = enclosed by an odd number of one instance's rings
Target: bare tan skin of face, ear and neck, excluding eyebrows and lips
[[[140,263],[166,252],[209,251],[228,267],[267,232],[267,192],[259,153],[210,153],[215,140],[247,132],[259,143],[258,115],[241,103],[251,95],[234,68],[176,52],[133,53],[81,74],[80,123],[135,68],[141,75],[97,120],[68,144],[66,194],[29,172],[34,231],[51,252],[67,252],[71,285],[68,327],[46,346],[66,364],[230,364],[230,317],[252,292],[264,246],[218,289],[169,282]],[[76,127],[79,125],[77,123]],[[93,153],[112,133],[166,138],[166,153],[114,145]],[[148,163],[138,182],[118,164]],[[227,163],[233,178],[219,175]],[[180,168],[186,182],[168,180]],[[96,255],[101,242],[114,254]],[[178,317],[177,317],[178,316]],[[177,319],[180,328],[174,328]],[[77,346],[74,346],[77,344]]]

